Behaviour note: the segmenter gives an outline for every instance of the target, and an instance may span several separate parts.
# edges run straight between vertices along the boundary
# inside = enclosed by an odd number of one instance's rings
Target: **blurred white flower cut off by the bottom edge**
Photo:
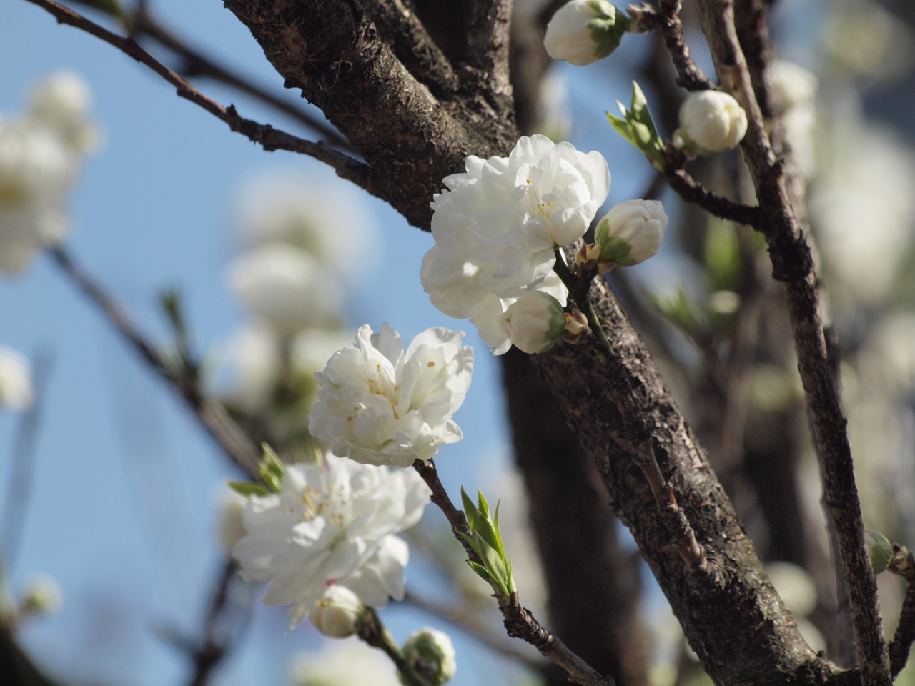
[[[296,654],[289,675],[296,686],[402,686],[391,659],[355,638]]]

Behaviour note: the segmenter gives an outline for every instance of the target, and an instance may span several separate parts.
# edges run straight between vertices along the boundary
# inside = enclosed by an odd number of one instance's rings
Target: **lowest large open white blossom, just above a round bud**
[[[366,606],[404,597],[406,543],[394,534],[420,520],[429,489],[412,469],[325,456],[285,466],[278,494],[253,496],[232,555],[249,581],[267,582],[264,604],[289,605],[289,627],[312,611],[325,584]]]

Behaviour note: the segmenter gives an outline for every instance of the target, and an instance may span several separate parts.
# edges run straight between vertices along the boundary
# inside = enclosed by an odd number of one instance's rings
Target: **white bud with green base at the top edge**
[[[544,48],[551,58],[581,67],[619,48],[629,22],[607,0],[570,0],[546,25]]]

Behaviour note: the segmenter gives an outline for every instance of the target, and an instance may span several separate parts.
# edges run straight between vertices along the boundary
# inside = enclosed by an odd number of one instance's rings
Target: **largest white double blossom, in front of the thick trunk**
[[[508,157],[470,155],[466,168],[432,202],[436,245],[420,278],[433,305],[469,318],[501,355],[512,343],[503,315],[515,301],[541,291],[565,305],[554,251],[584,235],[610,172],[599,153],[543,135],[522,137]]]

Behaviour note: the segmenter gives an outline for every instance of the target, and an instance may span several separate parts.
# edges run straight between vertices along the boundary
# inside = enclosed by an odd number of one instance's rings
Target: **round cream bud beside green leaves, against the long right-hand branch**
[[[721,91],[696,91],[680,106],[673,140],[698,155],[716,155],[740,143],[746,133],[747,113],[734,98]]]

